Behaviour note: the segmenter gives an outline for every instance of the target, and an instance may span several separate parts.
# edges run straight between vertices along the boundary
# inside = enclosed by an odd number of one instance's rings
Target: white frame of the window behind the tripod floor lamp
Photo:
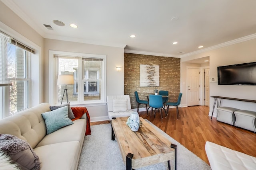
[[[101,100],[87,100],[87,101],[81,101],[81,102],[70,102],[72,106],[104,106],[106,105],[106,64],[107,64],[107,56],[106,55],[96,55],[96,54],[86,54],[86,53],[74,53],[74,52],[66,52],[66,51],[54,51],[49,50],[49,103],[52,105],[58,104],[58,86],[57,86],[57,59],[54,58],[54,55],[60,55],[60,56],[69,56],[69,57],[79,57],[82,60],[82,57],[90,57],[90,58],[102,58],[103,59],[103,66],[102,66],[102,92]],[[78,62],[78,67],[82,68],[82,62]],[[79,76],[80,76],[80,83],[82,84],[82,81],[84,78],[82,77],[82,71],[83,69],[79,70]],[[83,86],[78,86],[79,92],[83,92]],[[78,98],[80,94],[78,93]]]

